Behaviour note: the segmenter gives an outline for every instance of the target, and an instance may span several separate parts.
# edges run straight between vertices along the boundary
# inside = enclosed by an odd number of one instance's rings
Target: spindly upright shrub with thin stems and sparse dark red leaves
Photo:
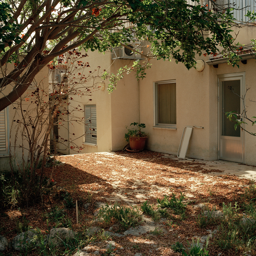
[[[78,153],[83,149],[76,144],[79,137],[69,132],[68,123],[84,124],[85,132],[93,132],[88,125],[91,123],[91,117],[85,119],[83,114],[84,101],[79,102],[72,98],[74,95],[91,96],[92,92],[100,88],[100,83],[97,82],[101,80],[98,79],[99,70],[89,71],[90,65],[84,62],[85,58],[86,54],[76,50],[63,54],[61,60],[48,64],[52,81],[55,80],[57,73],[55,71],[58,68],[64,71],[60,81],[52,83],[50,93],[48,81],[47,83],[37,81],[33,90],[30,86],[30,90],[13,103],[15,114],[10,131],[10,138],[13,137],[13,139],[10,140],[9,160],[12,179],[15,181],[17,190],[20,191],[20,203],[25,202],[28,205],[33,200],[41,198],[44,170],[52,167],[52,173],[54,172],[58,146],[61,145],[62,150],[70,148]],[[87,81],[92,83],[88,85]],[[53,128],[54,126],[56,129]],[[66,129],[64,138],[59,136],[60,127],[63,130]],[[22,182],[15,178],[14,173],[17,171]],[[50,182],[52,174],[49,178]]]

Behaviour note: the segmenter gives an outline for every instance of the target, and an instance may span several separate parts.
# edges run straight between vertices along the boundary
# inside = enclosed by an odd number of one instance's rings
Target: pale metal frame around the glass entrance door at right
[[[217,85],[218,85],[218,159],[220,159],[220,135],[221,135],[221,90],[220,90],[220,79],[230,78],[230,80],[236,80],[236,78],[241,79],[241,89],[242,95],[245,94],[245,72],[240,73],[230,73],[230,74],[221,74],[217,75]],[[240,101],[241,102],[241,101]],[[242,103],[240,103],[242,107]],[[241,108],[243,110],[243,108]],[[242,124],[242,128],[244,128],[244,124]],[[245,163],[245,132],[244,130],[241,132],[241,140],[242,140],[242,163]],[[221,159],[223,160],[223,159]],[[227,160],[228,161],[228,160]]]

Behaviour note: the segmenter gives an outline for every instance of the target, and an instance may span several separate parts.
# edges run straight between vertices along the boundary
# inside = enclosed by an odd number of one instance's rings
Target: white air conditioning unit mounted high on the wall
[[[141,51],[141,47],[139,42],[135,42],[132,44],[128,44],[128,46],[132,49],[135,49],[137,52]],[[128,49],[124,46],[115,47],[112,50],[112,60],[115,59],[126,59],[126,60],[143,60],[141,55],[137,52],[133,52],[131,49]]]

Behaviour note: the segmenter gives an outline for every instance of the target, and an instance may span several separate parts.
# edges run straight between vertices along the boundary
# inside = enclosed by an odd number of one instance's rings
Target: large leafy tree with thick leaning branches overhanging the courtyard
[[[196,54],[216,54],[218,46],[230,50],[230,9],[201,6],[192,0],[11,0],[0,4],[0,111],[17,100],[35,75],[54,58],[76,47],[101,52],[113,46],[147,40],[141,54],[171,57],[187,68]],[[210,9],[211,8],[211,9]],[[218,21],[217,21],[218,20]],[[148,29],[150,26],[151,29]],[[152,30],[155,30],[153,33]],[[130,50],[132,50],[130,48]],[[135,50],[133,50],[135,51]],[[6,71],[8,62],[14,63]]]

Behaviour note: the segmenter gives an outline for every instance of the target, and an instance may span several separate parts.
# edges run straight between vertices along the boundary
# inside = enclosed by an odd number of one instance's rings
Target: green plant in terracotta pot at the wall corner
[[[134,151],[142,151],[145,147],[146,140],[148,138],[147,134],[145,132],[142,132],[141,129],[145,128],[145,124],[140,124],[140,123],[132,123],[130,126],[137,126],[133,127],[131,129],[126,129],[128,130],[127,133],[125,133],[124,138],[127,142],[130,143],[130,147]]]

